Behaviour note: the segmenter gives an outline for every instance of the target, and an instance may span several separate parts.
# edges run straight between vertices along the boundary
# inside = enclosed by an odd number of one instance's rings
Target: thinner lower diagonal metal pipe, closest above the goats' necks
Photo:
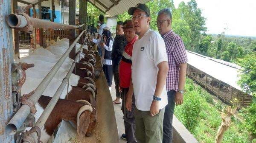
[[[84,46],[84,42],[81,45],[81,48],[79,51],[81,51],[82,47]],[[63,79],[63,81],[61,82],[61,85],[58,87],[58,89],[56,90],[55,94],[52,96],[52,99],[50,100],[49,104],[47,105],[47,107],[44,109],[44,112],[41,114],[41,116],[38,118],[38,121],[35,123],[35,126],[38,126],[40,129],[42,129],[44,127],[45,122],[47,121],[49,115],[52,112],[52,109],[55,107],[58,99],[61,96],[61,93],[63,92],[66,84],[68,83],[68,80],[71,76],[71,73],[73,72],[75,66],[76,66],[76,62],[79,59],[79,54],[76,55],[76,59],[74,60],[74,62],[72,63],[70,70],[67,72],[67,75],[65,76],[65,78]],[[68,85],[67,85],[68,86]],[[32,134],[30,134],[31,137],[34,138],[34,140],[36,141],[38,138],[38,134],[36,132],[33,132]],[[23,143],[29,143],[27,141],[23,141]]]

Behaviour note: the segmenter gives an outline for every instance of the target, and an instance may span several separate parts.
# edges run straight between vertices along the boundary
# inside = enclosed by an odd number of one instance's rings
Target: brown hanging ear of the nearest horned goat
[[[84,137],[90,123],[89,111],[84,111],[79,117],[79,123],[77,123],[76,130],[79,137]]]

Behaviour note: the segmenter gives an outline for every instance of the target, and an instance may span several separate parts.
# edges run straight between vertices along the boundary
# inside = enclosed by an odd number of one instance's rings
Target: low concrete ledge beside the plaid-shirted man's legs
[[[186,129],[186,127],[173,116],[173,143],[198,143],[195,137]]]

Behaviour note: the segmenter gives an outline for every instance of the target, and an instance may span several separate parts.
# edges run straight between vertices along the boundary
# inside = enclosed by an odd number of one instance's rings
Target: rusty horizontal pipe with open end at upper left
[[[24,28],[28,26],[28,23],[32,25],[31,28],[57,28],[57,29],[75,29],[75,28],[81,28],[84,26],[82,25],[67,25],[67,24],[61,24],[56,22],[51,22],[47,20],[40,20],[33,17],[25,17],[20,14],[9,14],[6,18],[7,24],[12,28]]]

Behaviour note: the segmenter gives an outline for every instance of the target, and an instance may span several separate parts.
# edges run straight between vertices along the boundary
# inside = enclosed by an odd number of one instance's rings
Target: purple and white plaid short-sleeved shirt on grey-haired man
[[[166,45],[169,71],[166,79],[166,90],[178,90],[179,64],[188,62],[185,46],[180,36],[172,30],[164,34],[163,40]]]

